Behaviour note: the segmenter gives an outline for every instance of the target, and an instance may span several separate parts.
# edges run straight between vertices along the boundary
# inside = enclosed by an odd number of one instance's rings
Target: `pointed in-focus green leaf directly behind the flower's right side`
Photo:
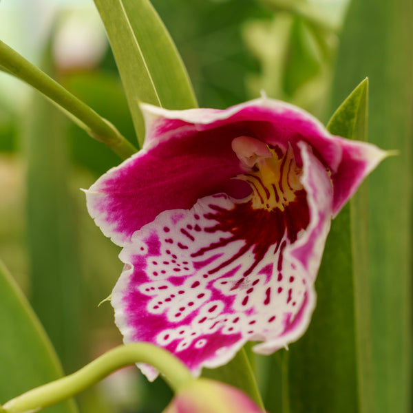
[[[366,80],[332,116],[332,134],[366,140],[367,93]],[[364,197],[359,189],[332,222],[315,284],[313,319],[306,335],[290,346],[292,412],[368,412],[372,407]]]

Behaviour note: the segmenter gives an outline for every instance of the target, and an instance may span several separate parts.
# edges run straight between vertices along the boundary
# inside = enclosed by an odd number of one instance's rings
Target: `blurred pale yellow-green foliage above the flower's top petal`
[[[288,100],[325,116],[338,36],[348,1],[262,0],[268,21],[249,21],[246,44],[261,65],[248,78],[252,94]]]

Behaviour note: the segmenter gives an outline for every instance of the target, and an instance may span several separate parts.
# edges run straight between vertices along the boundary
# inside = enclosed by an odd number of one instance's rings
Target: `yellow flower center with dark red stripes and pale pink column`
[[[297,167],[290,144],[282,151],[255,138],[240,136],[233,140],[232,147],[243,165],[251,169],[236,178],[251,185],[253,209],[284,211],[296,199],[297,191],[303,189],[302,170]]]

